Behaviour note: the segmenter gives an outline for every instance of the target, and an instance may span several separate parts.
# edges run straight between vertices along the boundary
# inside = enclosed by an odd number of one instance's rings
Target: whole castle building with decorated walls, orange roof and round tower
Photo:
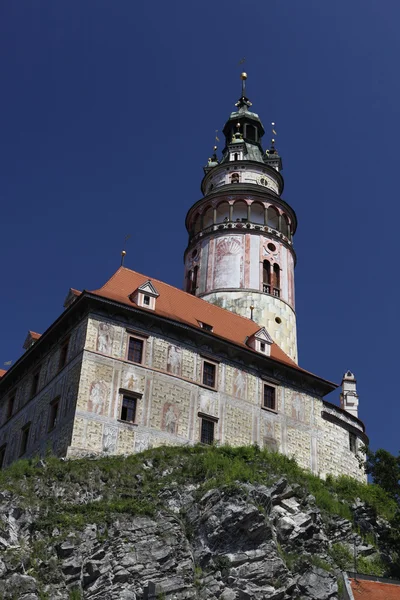
[[[248,109],[243,89],[189,210],[186,291],[124,267],[98,290],[71,289],[61,316],[0,373],[3,467],[48,451],[258,444],[323,477],[365,480],[354,376],[338,407],[324,400],[337,386],[297,364],[296,216]]]

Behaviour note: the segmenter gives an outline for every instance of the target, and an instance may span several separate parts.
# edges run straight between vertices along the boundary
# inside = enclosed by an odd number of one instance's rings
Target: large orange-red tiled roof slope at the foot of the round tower
[[[120,267],[118,271],[98,290],[91,292],[97,296],[115,300],[128,306],[137,305],[129,299],[129,296],[140,285],[146,281],[151,281],[160,294],[156,301],[155,313],[161,317],[173,319],[181,323],[186,323],[199,329],[199,321],[212,325],[213,334],[224,338],[238,346],[246,346],[246,338],[250,337],[261,329],[260,325],[241,317],[229,310],[220,308],[210,302],[197,298],[178,288],[175,288],[158,279],[150,279],[146,275],[131,271],[126,267]],[[140,307],[142,310],[149,310]],[[153,311],[152,311],[153,312]],[[283,350],[275,343],[271,347],[271,358],[290,365],[299,371],[301,369]],[[334,385],[334,384],[332,384]]]

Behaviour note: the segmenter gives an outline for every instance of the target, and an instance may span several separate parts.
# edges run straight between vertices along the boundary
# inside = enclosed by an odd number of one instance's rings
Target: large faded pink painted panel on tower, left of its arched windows
[[[241,287],[242,239],[229,236],[217,240],[214,287]]]

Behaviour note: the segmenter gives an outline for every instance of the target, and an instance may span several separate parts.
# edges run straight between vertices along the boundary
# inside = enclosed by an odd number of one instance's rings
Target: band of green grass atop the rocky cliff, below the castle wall
[[[152,515],[162,508],[162,492],[169,486],[192,483],[200,497],[207,490],[239,483],[271,485],[279,477],[299,484],[312,494],[321,510],[352,518],[349,504],[356,498],[391,520],[396,503],[378,486],[349,477],[326,481],[301,469],[296,461],[257,446],[160,447],[131,456],[96,460],[59,460],[49,457],[20,460],[0,472],[0,489],[8,489],[39,511],[37,527],[61,529],[88,522],[107,523],[113,515]]]

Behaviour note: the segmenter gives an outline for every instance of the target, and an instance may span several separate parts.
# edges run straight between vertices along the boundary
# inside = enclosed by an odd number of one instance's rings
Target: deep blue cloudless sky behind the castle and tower
[[[127,233],[126,266],[181,287],[245,56],[299,221],[300,364],[353,370],[372,447],[397,454],[399,20],[398,0],[0,3],[0,367]]]

